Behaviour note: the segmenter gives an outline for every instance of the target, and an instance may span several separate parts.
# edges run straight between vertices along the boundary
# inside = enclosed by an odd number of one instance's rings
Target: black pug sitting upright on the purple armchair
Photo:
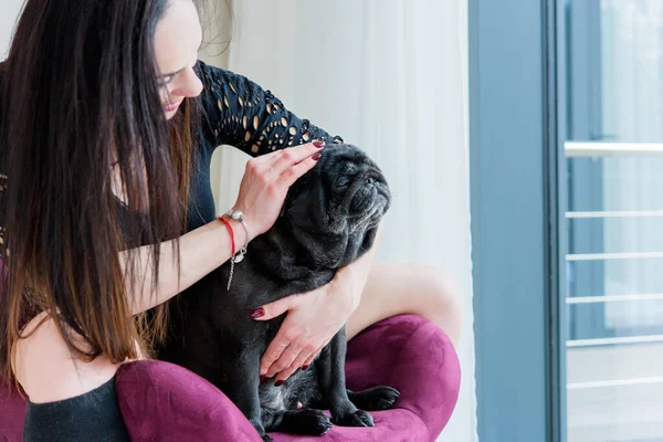
[[[210,273],[173,302],[170,341],[159,359],[181,365],[219,387],[263,440],[266,431],[322,434],[332,422],[372,427],[364,410],[391,408],[399,392],[346,390],[343,328],[307,370],[283,386],[260,380],[260,359],[285,315],[256,322],[249,313],[332,281],[336,270],[366,253],[391,201],[378,167],[358,148],[328,146],[318,164],[288,191],[272,229],[255,238],[235,264]],[[297,402],[304,408],[297,409]],[[358,409],[359,408],[359,409]],[[320,411],[329,409],[333,421]]]

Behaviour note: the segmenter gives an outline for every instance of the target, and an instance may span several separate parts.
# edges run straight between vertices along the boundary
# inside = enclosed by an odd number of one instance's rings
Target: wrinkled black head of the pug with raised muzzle
[[[328,145],[291,188],[283,217],[316,264],[338,267],[370,249],[390,204],[385,176],[364,151]]]

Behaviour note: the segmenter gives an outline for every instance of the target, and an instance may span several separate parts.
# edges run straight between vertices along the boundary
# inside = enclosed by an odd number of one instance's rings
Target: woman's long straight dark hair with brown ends
[[[22,325],[50,311],[83,360],[136,358],[162,337],[165,308],[131,317],[137,245],[186,228],[194,103],[170,122],[159,97],[154,34],[168,0],[28,0],[4,63],[0,166],[8,176],[8,275],[0,293],[0,369],[11,379]],[[120,202],[114,177],[123,187]],[[127,210],[128,209],[128,210]],[[131,214],[130,217],[127,213]],[[149,245],[151,244],[151,245]],[[179,256],[179,242],[172,242]],[[127,262],[120,262],[120,252]],[[177,262],[179,269],[179,260]],[[179,272],[178,272],[179,273]],[[91,350],[77,348],[74,332]]]

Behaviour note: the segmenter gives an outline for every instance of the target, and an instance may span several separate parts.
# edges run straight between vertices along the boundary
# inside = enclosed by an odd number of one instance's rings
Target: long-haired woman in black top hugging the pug
[[[244,244],[269,230],[288,187],[340,140],[198,62],[201,35],[191,0],[24,7],[0,71],[0,367],[30,398],[27,440],[126,440],[118,366],[162,337],[167,299],[231,257],[231,233]],[[248,229],[215,219],[209,164],[220,144],[255,157],[232,208]],[[402,313],[457,340],[442,277],[373,254],[306,296],[246,313],[288,312],[261,375],[283,381],[344,324],[349,339]]]

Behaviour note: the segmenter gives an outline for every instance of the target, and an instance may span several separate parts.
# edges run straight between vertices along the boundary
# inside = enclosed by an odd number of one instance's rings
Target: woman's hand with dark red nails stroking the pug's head
[[[266,232],[276,222],[287,189],[319,159],[323,141],[288,147],[253,158],[240,185],[235,210],[244,213],[253,238]]]

